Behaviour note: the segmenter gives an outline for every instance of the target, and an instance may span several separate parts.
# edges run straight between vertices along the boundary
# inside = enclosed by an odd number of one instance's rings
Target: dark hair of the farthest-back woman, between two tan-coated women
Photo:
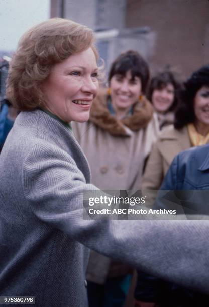
[[[174,101],[167,110],[167,112],[170,112],[174,111],[179,103],[179,93],[181,89],[181,83],[177,80],[176,76],[171,71],[165,70],[163,72],[158,73],[155,77],[151,79],[147,98],[152,103],[152,94],[154,90],[161,90],[168,84],[172,84],[174,87]]]

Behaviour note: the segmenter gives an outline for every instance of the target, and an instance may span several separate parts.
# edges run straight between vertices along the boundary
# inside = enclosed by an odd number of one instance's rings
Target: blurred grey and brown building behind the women
[[[209,63],[208,0],[51,0],[51,17],[64,17],[96,31],[107,63],[138,50],[153,73],[166,65],[183,77]]]

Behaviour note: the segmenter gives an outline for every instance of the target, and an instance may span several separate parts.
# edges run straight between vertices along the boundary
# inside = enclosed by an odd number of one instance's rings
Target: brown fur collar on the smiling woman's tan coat
[[[133,115],[122,120],[117,119],[110,113],[107,101],[108,94],[106,90],[101,90],[93,101],[89,121],[93,122],[101,129],[108,131],[111,135],[127,135],[126,127],[136,132],[146,128],[149,121],[152,119],[153,107],[145,97],[134,105]]]

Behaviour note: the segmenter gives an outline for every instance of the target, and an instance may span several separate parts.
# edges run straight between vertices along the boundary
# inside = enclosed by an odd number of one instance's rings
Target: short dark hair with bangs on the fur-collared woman
[[[142,84],[142,92],[146,92],[147,83],[149,81],[149,67],[147,62],[141,57],[137,51],[129,50],[120,54],[112,63],[108,81],[110,83],[112,77],[116,74],[125,77],[127,71],[131,71],[132,79],[139,77]]]

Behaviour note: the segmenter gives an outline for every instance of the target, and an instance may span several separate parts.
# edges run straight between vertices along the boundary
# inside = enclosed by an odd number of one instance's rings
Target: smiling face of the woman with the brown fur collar
[[[141,80],[138,77],[132,79],[131,71],[127,71],[125,76],[116,74],[111,78],[111,100],[114,109],[128,110],[139,100],[141,94]]]

